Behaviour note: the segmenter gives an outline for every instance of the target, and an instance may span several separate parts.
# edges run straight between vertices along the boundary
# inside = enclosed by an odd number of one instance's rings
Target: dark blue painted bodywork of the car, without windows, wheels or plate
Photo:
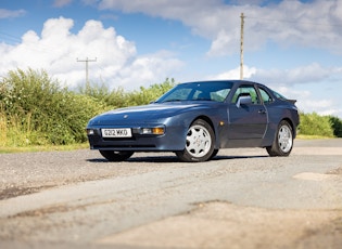
[[[224,100],[205,99],[167,100],[170,92],[183,86],[207,88],[225,86],[229,93]],[[232,103],[236,90],[241,86],[255,88],[259,103]],[[264,102],[259,89],[266,91],[271,100]],[[224,95],[223,95],[224,96]],[[243,100],[243,99],[241,99]],[[90,147],[101,150],[131,152],[176,152],[186,146],[186,136],[191,123],[201,118],[211,124],[215,133],[215,149],[228,147],[267,147],[275,141],[278,124],[287,120],[295,137],[300,122],[295,101],[286,100],[267,87],[240,80],[199,81],[176,86],[156,102],[143,106],[114,109],[92,118],[87,130]],[[163,127],[165,134],[141,134],[141,128]],[[131,128],[132,137],[103,139],[101,129]]]

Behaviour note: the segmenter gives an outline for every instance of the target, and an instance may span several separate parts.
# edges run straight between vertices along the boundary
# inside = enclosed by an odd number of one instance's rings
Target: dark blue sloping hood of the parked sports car
[[[205,107],[206,106],[206,107]],[[208,108],[208,104],[203,103],[153,103],[142,106],[118,108],[98,115],[89,121],[91,124],[132,124],[141,122],[159,122],[165,118],[178,115],[188,109]]]

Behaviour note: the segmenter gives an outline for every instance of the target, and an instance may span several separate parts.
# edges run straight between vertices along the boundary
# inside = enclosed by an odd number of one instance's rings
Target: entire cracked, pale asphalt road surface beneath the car
[[[342,248],[342,140],[207,162],[0,155],[0,248]]]

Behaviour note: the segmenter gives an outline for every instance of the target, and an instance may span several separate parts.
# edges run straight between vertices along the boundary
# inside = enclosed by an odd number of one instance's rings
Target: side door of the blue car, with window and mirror
[[[250,96],[250,101],[239,104],[241,96]],[[267,109],[253,84],[240,86],[233,93],[228,104],[228,140],[239,140],[241,146],[243,143],[257,146],[262,142],[267,127]]]

